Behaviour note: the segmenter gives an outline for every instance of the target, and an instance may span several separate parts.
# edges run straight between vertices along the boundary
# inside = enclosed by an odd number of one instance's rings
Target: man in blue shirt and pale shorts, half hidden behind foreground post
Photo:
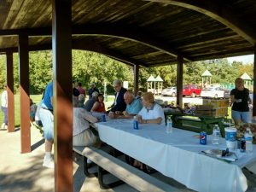
[[[54,168],[54,160],[51,156],[52,144],[54,142],[54,115],[53,115],[53,82],[45,88],[42,106],[39,112],[44,126],[45,154],[43,166]]]

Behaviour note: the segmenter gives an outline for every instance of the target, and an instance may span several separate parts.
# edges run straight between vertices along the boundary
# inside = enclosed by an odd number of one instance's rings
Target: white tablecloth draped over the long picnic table
[[[163,125],[139,125],[133,130],[130,119],[108,119],[96,127],[103,142],[197,191],[245,191],[247,178],[241,167],[256,161],[255,146],[253,154],[238,154],[239,160],[232,163],[199,154],[216,148],[211,137],[201,145],[198,133],[173,128],[167,134]],[[218,148],[225,148],[224,139],[221,143]]]

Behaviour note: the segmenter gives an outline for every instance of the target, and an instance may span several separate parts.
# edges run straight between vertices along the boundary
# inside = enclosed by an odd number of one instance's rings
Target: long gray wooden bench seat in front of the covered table
[[[106,170],[139,191],[179,191],[171,185],[126,164],[123,160],[113,157],[102,149],[73,147],[73,150],[92,160],[100,169]],[[98,172],[98,176],[99,174],[100,172]],[[100,184],[101,182],[99,181]]]

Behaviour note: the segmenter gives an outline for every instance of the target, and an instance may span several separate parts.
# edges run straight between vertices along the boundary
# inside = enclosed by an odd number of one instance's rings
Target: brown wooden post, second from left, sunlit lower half
[[[31,152],[28,37],[19,35],[21,153]]]

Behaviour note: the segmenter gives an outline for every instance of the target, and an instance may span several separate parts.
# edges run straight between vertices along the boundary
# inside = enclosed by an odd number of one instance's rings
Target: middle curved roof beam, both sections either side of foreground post
[[[32,28],[32,29],[14,29],[0,30],[0,36],[14,36],[20,33],[26,33],[28,36],[50,36],[51,28]],[[177,57],[183,55],[170,44],[166,44],[164,40],[155,38],[154,35],[148,35],[148,32],[142,32],[142,29],[132,28],[131,26],[118,25],[95,25],[95,26],[73,26],[73,34],[88,35],[88,36],[108,36],[115,38],[123,38],[138,44],[144,44],[152,49],[160,50],[167,55]],[[184,61],[191,61],[183,55]]]

